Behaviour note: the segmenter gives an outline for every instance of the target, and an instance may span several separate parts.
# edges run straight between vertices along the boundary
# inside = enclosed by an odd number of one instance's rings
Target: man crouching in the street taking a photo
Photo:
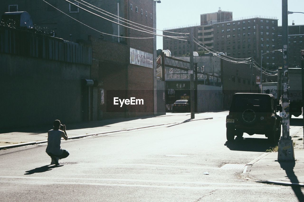
[[[51,157],[51,164],[58,166],[58,160],[68,157],[70,153],[60,147],[61,137],[63,137],[64,140],[67,140],[65,125],[61,125],[60,120],[55,120],[53,127],[53,130],[47,132],[47,149],[45,152]]]

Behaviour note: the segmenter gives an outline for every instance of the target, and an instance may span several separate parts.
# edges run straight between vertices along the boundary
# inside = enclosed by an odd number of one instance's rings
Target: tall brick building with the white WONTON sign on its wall
[[[153,115],[160,112],[155,104],[157,103],[157,81],[156,73],[153,71],[156,68],[156,37],[151,33],[145,33],[153,31],[150,28],[156,28],[155,1],[90,1],[90,4],[103,11],[93,6],[85,7],[79,1],[75,1],[74,4],[65,1],[59,3],[57,0],[47,2],[54,7],[43,1],[4,0],[0,13],[27,11],[34,24],[40,27],[47,26],[46,31],[54,31],[56,37],[92,46],[91,79],[94,80],[94,86],[89,93],[90,104],[93,108],[90,120]],[[93,15],[77,5],[101,15],[103,18]],[[37,7],[40,9],[36,9]],[[95,30],[71,19],[56,8]],[[117,16],[150,28],[145,27],[144,29],[147,29],[145,32],[135,30],[140,28],[133,25],[130,27],[135,29],[126,28],[125,26],[129,26],[126,20],[115,23]],[[140,62],[136,63],[134,53],[139,54],[136,59],[139,59]],[[113,104],[114,97],[120,99],[136,97],[143,99],[144,105],[120,107]]]

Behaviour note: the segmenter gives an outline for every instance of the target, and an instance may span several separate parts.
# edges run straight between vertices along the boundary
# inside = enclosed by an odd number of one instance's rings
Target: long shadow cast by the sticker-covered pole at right
[[[280,166],[283,170],[285,170],[286,175],[291,183],[298,184],[299,180],[297,176],[295,175],[295,172],[293,171],[293,168],[295,167],[295,161],[278,161],[280,163]],[[299,201],[304,201],[304,195],[302,193],[301,186],[292,185],[292,190],[297,196]]]

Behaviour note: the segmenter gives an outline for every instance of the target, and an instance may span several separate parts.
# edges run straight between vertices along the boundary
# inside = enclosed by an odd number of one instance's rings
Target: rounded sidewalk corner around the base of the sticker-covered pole
[[[248,177],[256,182],[304,187],[303,126],[290,127],[295,161],[278,161],[278,152],[264,153],[256,162],[247,165]]]

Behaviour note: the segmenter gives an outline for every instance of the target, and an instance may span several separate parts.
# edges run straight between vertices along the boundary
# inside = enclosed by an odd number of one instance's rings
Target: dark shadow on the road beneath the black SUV
[[[226,141],[224,144],[230,150],[236,151],[253,151],[253,152],[265,152],[269,148],[275,147],[277,144],[269,143],[265,138],[244,138],[233,141]]]

